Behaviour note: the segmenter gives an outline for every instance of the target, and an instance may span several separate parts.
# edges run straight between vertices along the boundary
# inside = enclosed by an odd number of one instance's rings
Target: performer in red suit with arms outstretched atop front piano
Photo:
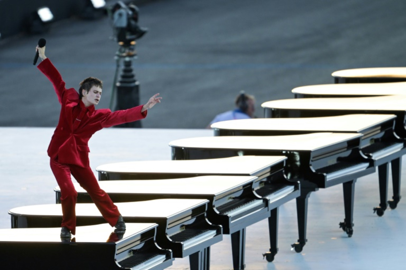
[[[71,175],[91,196],[104,219],[116,232],[125,231],[125,223],[108,194],[100,189],[89,166],[88,141],[102,128],[143,119],[147,110],[159,103],[159,94],[152,96],[147,104],[127,110],[111,112],[95,110],[102,96],[102,81],[89,77],[80,83],[79,94],[73,88],[65,88],[65,82],[51,61],[45,57],[45,47],[36,47],[42,62],[38,69],[54,86],[62,105],[58,125],[48,147],[50,166],[61,191],[62,225],[61,238],[71,238],[76,231],[75,204],[77,192]]]

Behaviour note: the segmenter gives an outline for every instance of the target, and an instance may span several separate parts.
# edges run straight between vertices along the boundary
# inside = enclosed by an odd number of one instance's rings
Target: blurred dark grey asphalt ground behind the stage
[[[113,1],[108,1],[112,3]],[[145,128],[204,128],[233,108],[240,90],[261,103],[293,98],[302,85],[333,83],[346,68],[405,66],[406,2],[400,0],[160,0],[139,6],[133,67],[140,102],[159,92],[162,104]],[[110,104],[118,45],[108,17],[57,21],[43,35],[0,40],[0,126],[53,127],[59,104],[32,65],[39,38],[67,86],[104,81],[98,108]]]

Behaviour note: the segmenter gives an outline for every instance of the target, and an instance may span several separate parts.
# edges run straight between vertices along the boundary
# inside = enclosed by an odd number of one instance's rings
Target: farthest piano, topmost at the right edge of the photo
[[[406,81],[405,67],[353,68],[331,74],[335,83],[391,83]]]

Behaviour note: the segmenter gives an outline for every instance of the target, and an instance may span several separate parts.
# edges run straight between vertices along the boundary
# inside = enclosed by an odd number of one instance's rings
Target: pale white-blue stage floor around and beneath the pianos
[[[53,128],[0,128],[0,228],[10,227],[8,210],[18,206],[55,203],[56,181],[46,154]],[[171,140],[212,136],[211,130],[109,128],[89,142],[91,167],[136,160],[171,159]],[[405,167],[402,162],[403,168]],[[402,177],[404,178],[404,169]],[[96,174],[96,171],[95,171]],[[405,193],[402,186],[401,194]],[[389,179],[389,198],[393,195]],[[395,210],[382,217],[373,213],[379,204],[377,173],[358,179],[355,186],[354,234],[339,228],[344,219],[341,185],[320,189],[309,198],[308,242],[302,253],[291,251],[297,241],[296,203],[280,207],[279,253],[272,263],[262,259],[269,249],[268,222],[247,228],[246,269],[325,270],[402,269],[406,262],[406,207],[401,199]],[[168,269],[189,268],[189,260],[175,259]],[[228,235],[211,248],[211,268],[232,269]]]

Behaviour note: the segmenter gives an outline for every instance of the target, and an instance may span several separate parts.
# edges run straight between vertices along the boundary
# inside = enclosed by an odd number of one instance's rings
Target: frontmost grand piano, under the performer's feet
[[[124,234],[108,224],[79,226],[71,241],[59,228],[0,230],[0,264],[12,270],[161,270],[172,265],[170,250],[155,243],[158,224],[127,223]]]

